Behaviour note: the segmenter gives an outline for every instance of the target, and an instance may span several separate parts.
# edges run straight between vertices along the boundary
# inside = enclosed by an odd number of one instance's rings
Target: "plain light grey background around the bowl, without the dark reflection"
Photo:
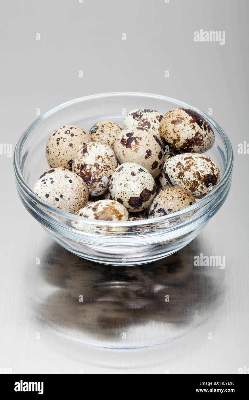
[[[249,155],[238,154],[237,145],[249,140],[249,2],[13,0],[1,8],[1,143],[14,147],[37,118],[36,108],[42,114],[100,92],[151,92],[204,112],[212,108],[235,162],[229,197],[190,245],[193,254],[225,256],[225,269],[214,275],[224,286],[218,314],[175,344],[129,351],[84,346],[76,356],[66,341],[53,342],[34,316],[31,286],[42,285],[35,260],[45,260],[40,268],[48,268],[46,246],[52,240],[22,206],[12,157],[1,154],[0,367],[14,373],[114,374],[236,374],[248,368]],[[225,31],[225,44],[194,42],[193,32],[201,28]],[[60,251],[57,246],[58,257]]]

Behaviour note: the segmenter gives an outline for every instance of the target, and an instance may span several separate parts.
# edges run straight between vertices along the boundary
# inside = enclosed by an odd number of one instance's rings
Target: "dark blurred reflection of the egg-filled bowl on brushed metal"
[[[41,296],[38,315],[80,342],[127,348],[173,340],[208,318],[219,298],[213,279],[194,269],[189,246],[159,262],[116,267],[56,249],[46,250],[49,265],[40,271],[57,287]]]

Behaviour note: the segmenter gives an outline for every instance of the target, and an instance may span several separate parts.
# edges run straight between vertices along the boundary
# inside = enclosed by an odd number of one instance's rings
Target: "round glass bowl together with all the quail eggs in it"
[[[14,154],[30,214],[66,249],[115,265],[157,260],[193,240],[227,197],[232,165],[231,143],[209,116],[126,92],[48,111]]]

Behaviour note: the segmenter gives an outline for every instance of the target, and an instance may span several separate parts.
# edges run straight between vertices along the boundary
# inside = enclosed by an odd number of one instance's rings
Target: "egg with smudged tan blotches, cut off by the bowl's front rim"
[[[81,208],[75,215],[91,220],[129,221],[129,213],[122,204],[114,200],[98,200]]]

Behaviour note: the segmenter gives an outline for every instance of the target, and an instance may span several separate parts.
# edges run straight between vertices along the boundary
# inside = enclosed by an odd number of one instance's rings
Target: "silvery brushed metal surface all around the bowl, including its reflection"
[[[225,204],[181,252],[157,265],[108,268],[49,238],[18,199],[11,152],[0,154],[0,368],[73,374],[248,368],[249,155],[237,152],[249,140],[248,3],[28,0],[2,8],[2,144],[14,146],[38,109],[137,90],[212,108],[235,164]],[[201,28],[225,31],[225,44],[194,42]],[[195,266],[201,254],[221,262]]]

